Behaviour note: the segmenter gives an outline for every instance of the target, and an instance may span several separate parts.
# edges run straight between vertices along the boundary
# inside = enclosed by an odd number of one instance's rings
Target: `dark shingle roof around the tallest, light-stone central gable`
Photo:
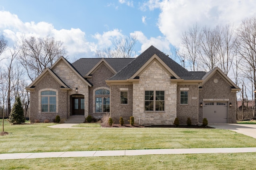
[[[122,68],[117,74],[108,80],[126,80],[132,77],[154,54],[156,54],[172,71],[174,71],[180,78],[184,80],[200,80],[199,77],[192,74],[180,64],[166,56],[163,52],[150,46],[147,50],[142,52],[137,58],[132,60],[127,66]]]

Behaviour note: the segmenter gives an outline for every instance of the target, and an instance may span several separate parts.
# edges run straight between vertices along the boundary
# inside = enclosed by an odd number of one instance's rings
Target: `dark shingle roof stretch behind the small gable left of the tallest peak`
[[[116,72],[130,63],[134,58],[104,58]],[[102,58],[80,58],[72,63],[72,66],[82,75],[85,76]]]

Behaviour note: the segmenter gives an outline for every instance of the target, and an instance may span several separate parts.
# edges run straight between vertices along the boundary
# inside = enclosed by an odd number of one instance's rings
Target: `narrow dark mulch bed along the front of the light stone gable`
[[[108,124],[101,123],[100,124],[102,128],[196,128],[196,129],[214,129],[209,126],[201,126],[201,125],[179,125],[178,127],[175,127],[174,125],[150,125],[150,126],[141,126],[141,125],[130,125],[130,124],[124,124],[121,126],[120,124],[112,124],[112,126],[109,126]]]

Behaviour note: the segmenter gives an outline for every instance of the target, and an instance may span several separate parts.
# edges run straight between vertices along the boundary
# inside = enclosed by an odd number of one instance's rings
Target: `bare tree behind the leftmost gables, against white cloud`
[[[21,38],[19,60],[32,81],[65,54],[63,42],[56,41],[53,37],[26,38],[23,36]]]

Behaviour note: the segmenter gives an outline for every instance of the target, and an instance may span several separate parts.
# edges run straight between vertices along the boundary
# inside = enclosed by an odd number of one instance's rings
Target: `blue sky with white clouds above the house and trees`
[[[71,61],[132,35],[136,55],[151,45],[169,54],[194,24],[239,26],[255,9],[255,0],[0,0],[0,35],[10,48],[21,35],[50,35]]]

